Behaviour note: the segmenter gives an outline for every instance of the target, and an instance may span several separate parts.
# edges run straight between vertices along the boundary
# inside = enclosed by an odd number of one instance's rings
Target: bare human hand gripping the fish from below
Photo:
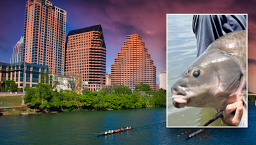
[[[223,111],[222,121],[227,125],[237,126],[243,115],[243,98],[242,93],[236,94],[236,102],[228,104]],[[235,112],[236,111],[236,112]]]

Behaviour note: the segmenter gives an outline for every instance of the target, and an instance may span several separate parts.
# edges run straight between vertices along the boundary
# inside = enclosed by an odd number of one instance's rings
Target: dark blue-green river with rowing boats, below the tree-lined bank
[[[164,107],[0,116],[0,144],[255,144],[255,118],[256,107],[249,104],[248,128],[206,128],[185,141],[188,135],[177,135],[197,128],[166,128]],[[134,130],[93,135],[127,125]]]

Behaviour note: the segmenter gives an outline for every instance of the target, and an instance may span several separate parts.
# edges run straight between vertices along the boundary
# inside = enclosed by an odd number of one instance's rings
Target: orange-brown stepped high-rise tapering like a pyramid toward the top
[[[111,84],[128,86],[132,90],[143,82],[156,90],[156,66],[138,34],[128,35],[111,65]]]

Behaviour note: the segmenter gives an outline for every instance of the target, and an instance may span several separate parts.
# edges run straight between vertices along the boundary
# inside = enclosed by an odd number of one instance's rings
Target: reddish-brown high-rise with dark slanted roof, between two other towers
[[[68,32],[65,72],[81,73],[89,84],[106,84],[106,46],[101,25]]]

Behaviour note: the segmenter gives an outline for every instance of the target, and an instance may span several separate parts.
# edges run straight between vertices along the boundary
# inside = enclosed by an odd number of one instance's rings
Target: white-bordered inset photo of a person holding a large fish
[[[167,14],[167,127],[248,127],[247,14]]]

